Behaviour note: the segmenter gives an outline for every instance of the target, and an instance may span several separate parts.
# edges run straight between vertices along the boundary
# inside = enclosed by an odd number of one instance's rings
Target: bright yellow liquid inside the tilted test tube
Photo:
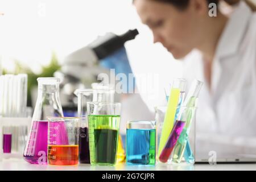
[[[159,148],[157,157],[159,158],[169,135],[171,134],[172,127],[174,127],[174,118],[176,114],[177,104],[179,102],[180,89],[171,89],[170,97],[167,104],[166,115],[164,116],[164,123],[162,129],[162,135],[160,137]]]

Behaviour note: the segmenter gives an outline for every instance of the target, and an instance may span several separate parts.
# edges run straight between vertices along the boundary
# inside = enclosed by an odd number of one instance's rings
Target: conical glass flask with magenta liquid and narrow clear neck
[[[59,78],[38,78],[38,98],[32,117],[24,160],[31,164],[47,164],[47,117],[63,117],[59,96]]]

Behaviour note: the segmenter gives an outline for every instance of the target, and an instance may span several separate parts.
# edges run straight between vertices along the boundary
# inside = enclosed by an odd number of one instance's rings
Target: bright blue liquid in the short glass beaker
[[[127,129],[127,164],[155,164],[155,129]]]

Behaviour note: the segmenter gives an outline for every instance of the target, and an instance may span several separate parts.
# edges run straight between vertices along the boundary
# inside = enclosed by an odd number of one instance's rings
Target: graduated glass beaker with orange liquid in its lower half
[[[48,117],[48,164],[79,163],[79,118]]]

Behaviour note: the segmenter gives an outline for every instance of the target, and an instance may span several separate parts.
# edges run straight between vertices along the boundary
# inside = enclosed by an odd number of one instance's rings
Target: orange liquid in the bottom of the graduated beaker
[[[79,163],[79,146],[48,145],[48,164],[68,166]]]

